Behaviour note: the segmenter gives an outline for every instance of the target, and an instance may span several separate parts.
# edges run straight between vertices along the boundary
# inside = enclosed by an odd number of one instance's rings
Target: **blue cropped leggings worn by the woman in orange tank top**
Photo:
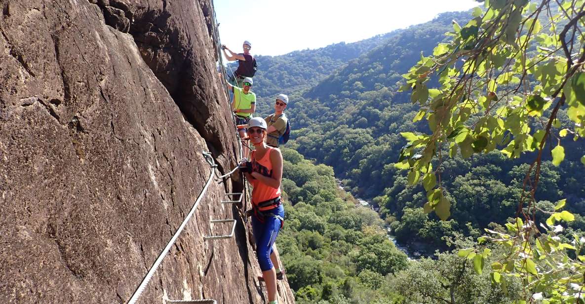
[[[284,207],[280,205],[278,208],[264,213],[273,213],[284,218]],[[252,216],[252,233],[256,241],[256,257],[262,271],[271,270],[273,267],[272,261],[270,261],[270,254],[273,251],[272,246],[276,241],[278,231],[280,231],[280,220],[276,217],[266,215],[264,216],[264,223],[261,223],[256,219],[256,216]]]

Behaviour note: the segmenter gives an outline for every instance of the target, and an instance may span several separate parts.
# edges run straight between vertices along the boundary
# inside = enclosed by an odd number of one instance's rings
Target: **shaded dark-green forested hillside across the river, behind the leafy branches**
[[[293,95],[287,109],[294,128],[294,141],[288,147],[331,165],[348,189],[380,205],[381,216],[398,240],[429,253],[448,248],[442,236],[477,237],[484,228],[496,227],[491,223],[504,224],[514,216],[526,160],[534,158],[525,154],[509,160],[492,152],[445,159],[442,182],[454,202],[446,222],[423,212],[422,182],[408,185],[406,173],[394,167],[407,143],[401,133],[428,131],[426,123],[413,122],[419,106],[409,102],[407,92],[397,92],[401,75],[417,63],[421,52],[433,53],[444,34],[453,30],[453,20],[464,24],[470,18],[469,12],[445,13],[432,22],[393,32],[392,39],[350,60],[302,96]],[[559,167],[550,163],[550,154],[545,155],[536,196],[542,210],[550,210],[553,202],[566,197],[570,210],[583,214],[585,187],[577,176],[585,148],[581,142],[565,141],[574,153],[567,154]],[[447,156],[449,151],[443,153]],[[581,229],[584,224],[577,216],[571,226]]]

